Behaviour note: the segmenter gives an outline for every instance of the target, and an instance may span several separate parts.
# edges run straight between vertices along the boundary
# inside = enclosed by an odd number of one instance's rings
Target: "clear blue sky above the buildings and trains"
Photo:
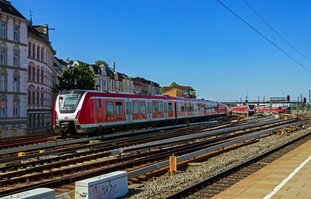
[[[271,28],[243,0],[220,0],[273,42]],[[33,24],[48,24],[60,59],[94,63],[141,76],[160,86],[176,82],[210,100],[263,99],[299,94],[309,99],[311,73],[282,53],[216,0],[12,0]],[[246,0],[300,53],[311,59],[311,1]],[[274,33],[277,46],[299,53]],[[311,71],[311,61],[301,56]]]

